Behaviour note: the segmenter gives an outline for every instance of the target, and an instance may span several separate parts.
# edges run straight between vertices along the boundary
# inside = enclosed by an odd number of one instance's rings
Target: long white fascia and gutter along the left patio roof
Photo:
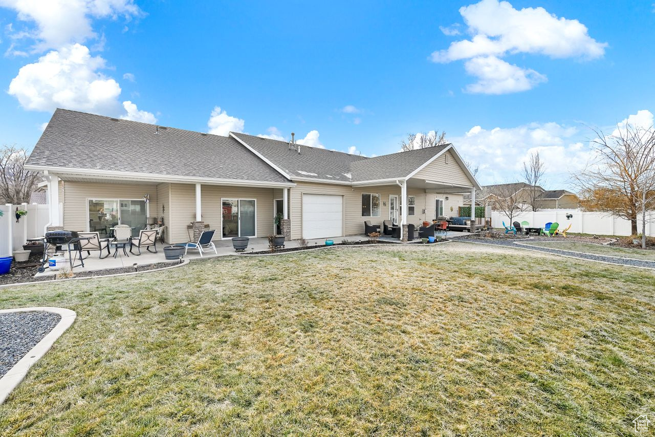
[[[295,187],[293,182],[269,182],[269,181],[249,181],[236,179],[218,179],[218,178],[193,178],[191,176],[172,176],[168,174],[148,174],[137,172],[117,172],[113,170],[97,170],[88,168],[67,168],[67,167],[50,167],[50,166],[25,166],[27,170],[48,171],[50,174],[58,176],[81,176],[88,178],[111,179],[123,178],[134,181],[149,182],[174,182],[174,183],[204,183],[206,185],[235,185],[251,187]]]

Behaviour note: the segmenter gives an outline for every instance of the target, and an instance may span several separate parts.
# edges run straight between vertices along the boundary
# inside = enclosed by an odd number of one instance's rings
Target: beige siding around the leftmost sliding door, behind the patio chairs
[[[157,204],[157,187],[150,184],[64,181],[64,228],[88,231],[88,199],[143,199],[150,195],[149,208]],[[149,213],[149,216],[154,211]]]

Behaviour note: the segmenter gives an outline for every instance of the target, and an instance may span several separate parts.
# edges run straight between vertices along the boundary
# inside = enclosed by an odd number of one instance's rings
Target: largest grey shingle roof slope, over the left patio
[[[56,109],[29,165],[289,182],[234,138]]]

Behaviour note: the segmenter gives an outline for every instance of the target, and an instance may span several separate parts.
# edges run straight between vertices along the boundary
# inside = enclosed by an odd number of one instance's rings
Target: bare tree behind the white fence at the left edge
[[[41,180],[41,174],[26,170],[27,160],[26,149],[16,145],[3,145],[0,148],[0,202],[14,205],[29,202],[29,197]]]

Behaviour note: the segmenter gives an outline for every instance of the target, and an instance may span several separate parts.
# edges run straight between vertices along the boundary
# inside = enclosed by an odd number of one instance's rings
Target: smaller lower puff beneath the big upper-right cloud
[[[478,56],[466,61],[464,68],[466,73],[477,77],[477,83],[466,86],[466,91],[471,93],[506,94],[525,91],[548,80],[533,69],[508,64],[496,56]]]

